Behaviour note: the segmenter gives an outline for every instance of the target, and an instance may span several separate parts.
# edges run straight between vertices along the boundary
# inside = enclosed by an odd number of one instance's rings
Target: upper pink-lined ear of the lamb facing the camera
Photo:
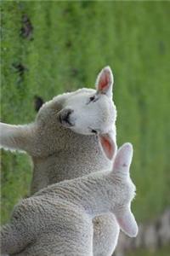
[[[111,67],[104,67],[98,75],[96,80],[96,89],[99,94],[105,94],[112,97],[112,87],[113,87],[113,74],[111,72]]]

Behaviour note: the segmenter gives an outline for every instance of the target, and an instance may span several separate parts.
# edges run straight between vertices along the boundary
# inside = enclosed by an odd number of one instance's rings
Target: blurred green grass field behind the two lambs
[[[115,75],[117,142],[133,143],[133,212],[156,218],[170,205],[170,3],[2,1],[2,121],[35,119],[33,97],[94,87],[110,65]],[[22,38],[22,15],[33,26]],[[20,78],[14,65],[22,63]],[[31,161],[2,151],[2,223],[29,191]]]

